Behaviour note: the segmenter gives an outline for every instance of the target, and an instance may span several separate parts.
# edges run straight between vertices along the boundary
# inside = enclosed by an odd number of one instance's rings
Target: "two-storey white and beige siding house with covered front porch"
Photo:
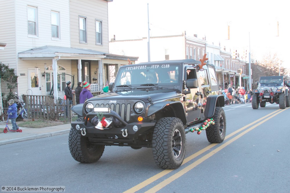
[[[110,65],[128,64],[125,56],[109,54],[110,60],[102,60],[109,53],[108,2],[112,0],[1,0],[0,42],[6,47],[0,62],[18,76],[15,92],[63,97],[67,80],[75,87],[86,80],[101,90]],[[52,84],[57,86],[52,89]]]

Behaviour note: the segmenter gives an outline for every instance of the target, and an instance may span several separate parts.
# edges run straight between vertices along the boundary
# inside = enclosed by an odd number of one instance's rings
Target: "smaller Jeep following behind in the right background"
[[[280,109],[290,106],[289,85],[283,76],[261,76],[253,90],[252,108],[265,107],[266,102],[279,104]]]

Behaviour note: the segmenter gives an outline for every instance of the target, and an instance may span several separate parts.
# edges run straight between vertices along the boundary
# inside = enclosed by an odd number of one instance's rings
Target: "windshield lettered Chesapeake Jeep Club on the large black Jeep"
[[[122,66],[118,71],[115,87],[122,87],[122,85],[131,87],[179,85],[180,69],[179,64]]]

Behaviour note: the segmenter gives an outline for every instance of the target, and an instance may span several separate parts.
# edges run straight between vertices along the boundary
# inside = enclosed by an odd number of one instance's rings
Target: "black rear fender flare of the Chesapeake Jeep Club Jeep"
[[[215,113],[216,106],[224,106],[224,95],[211,95],[206,99],[205,117],[212,117]]]

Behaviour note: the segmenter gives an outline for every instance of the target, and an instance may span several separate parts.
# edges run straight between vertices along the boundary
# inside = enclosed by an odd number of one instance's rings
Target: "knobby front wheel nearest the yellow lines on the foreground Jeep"
[[[182,121],[175,117],[164,117],[157,121],[152,139],[155,163],[163,169],[181,166],[186,150],[186,137]]]

